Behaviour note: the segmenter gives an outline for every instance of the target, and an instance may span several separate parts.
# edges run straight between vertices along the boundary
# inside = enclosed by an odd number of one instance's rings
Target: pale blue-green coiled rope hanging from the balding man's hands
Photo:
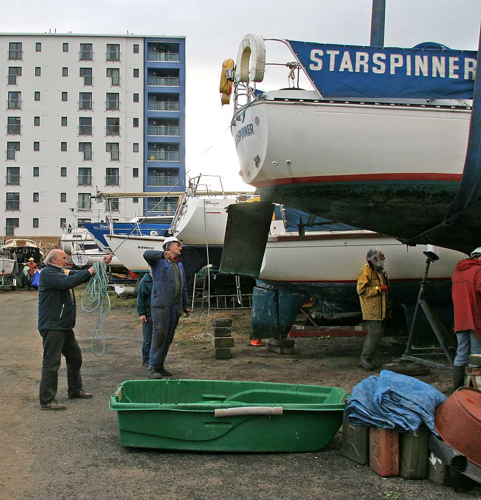
[[[99,318],[95,324],[95,332],[92,336],[91,347],[92,352],[100,357],[105,352],[105,335],[102,328],[102,318],[107,317],[110,312],[110,297],[107,293],[109,285],[109,276],[107,275],[107,265],[104,262],[94,263],[95,273],[90,278],[87,288],[82,295],[82,309],[87,312],[94,312],[99,309]],[[102,352],[97,354],[94,349],[94,340],[102,338]]]

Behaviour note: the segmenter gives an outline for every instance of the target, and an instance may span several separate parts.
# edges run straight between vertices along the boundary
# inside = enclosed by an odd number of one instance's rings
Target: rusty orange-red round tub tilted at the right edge
[[[481,467],[481,391],[459,387],[436,410],[439,435]]]

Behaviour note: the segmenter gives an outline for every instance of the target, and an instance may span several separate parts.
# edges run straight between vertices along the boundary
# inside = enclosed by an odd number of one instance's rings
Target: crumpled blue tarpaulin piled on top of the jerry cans
[[[399,427],[406,432],[416,432],[424,422],[437,435],[434,411],[445,400],[446,396],[432,385],[381,370],[379,376],[371,375],[352,389],[345,416],[352,425]]]

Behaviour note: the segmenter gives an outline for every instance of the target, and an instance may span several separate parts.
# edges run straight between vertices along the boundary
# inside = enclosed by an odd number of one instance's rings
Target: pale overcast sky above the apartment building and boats
[[[229,131],[232,105],[221,107],[222,61],[236,58],[246,33],[322,43],[369,44],[371,0],[24,0],[2,16],[2,32],[182,35],[186,37],[186,169],[222,175],[228,189],[249,188]],[[385,46],[437,41],[477,49],[480,0],[386,0]],[[266,45],[267,62],[287,62],[286,49]],[[287,86],[287,72],[259,88]],[[283,79],[284,78],[284,79]],[[271,84],[273,86],[271,86]]]

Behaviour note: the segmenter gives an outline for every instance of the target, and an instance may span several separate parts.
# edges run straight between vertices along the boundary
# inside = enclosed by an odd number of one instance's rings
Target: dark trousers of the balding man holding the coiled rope
[[[40,379],[40,404],[48,404],[57,395],[59,368],[62,354],[67,361],[68,395],[82,390],[82,351],[75,338],[74,330],[40,330],[44,345],[42,377]]]

